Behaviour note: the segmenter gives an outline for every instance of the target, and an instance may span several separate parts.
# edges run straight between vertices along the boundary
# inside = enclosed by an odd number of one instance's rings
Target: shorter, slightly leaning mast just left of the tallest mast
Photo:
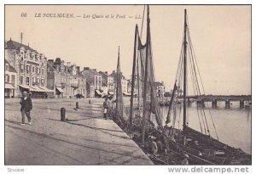
[[[136,50],[137,50],[137,25],[135,27],[133,65],[132,65],[132,75],[131,75],[130,125],[132,125],[132,115],[133,115],[133,97],[134,97],[134,84],[135,84],[136,55],[137,55]]]

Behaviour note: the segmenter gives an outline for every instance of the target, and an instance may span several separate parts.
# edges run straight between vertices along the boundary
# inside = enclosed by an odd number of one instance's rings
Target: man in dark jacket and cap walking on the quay
[[[22,123],[20,125],[25,125],[25,115],[27,117],[28,124],[31,125],[31,116],[30,111],[32,110],[32,100],[28,96],[28,93],[25,91],[23,92],[23,97],[20,99],[20,112],[22,116]]]

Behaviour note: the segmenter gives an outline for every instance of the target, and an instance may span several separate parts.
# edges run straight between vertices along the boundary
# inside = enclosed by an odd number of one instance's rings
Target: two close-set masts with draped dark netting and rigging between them
[[[151,117],[154,116],[155,121],[160,129],[162,129],[160,105],[156,98],[156,89],[154,87],[154,63],[150,36],[150,19],[149,6],[147,6],[147,34],[146,43],[143,44],[141,36],[138,33],[138,27],[135,29],[133,65],[131,76],[131,111],[130,111],[130,128],[137,126],[140,131],[141,144],[144,146],[148,141],[148,133],[154,128]],[[142,33],[141,33],[142,34]],[[136,79],[137,75],[137,79]],[[140,98],[143,99],[143,117],[139,125],[133,124],[134,115],[134,91],[135,81],[137,80],[138,91],[138,108],[140,109]],[[140,111],[138,111],[140,114]]]

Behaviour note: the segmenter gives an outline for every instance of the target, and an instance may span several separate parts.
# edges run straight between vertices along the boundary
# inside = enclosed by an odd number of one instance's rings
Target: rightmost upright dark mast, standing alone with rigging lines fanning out
[[[187,106],[186,106],[186,95],[187,95],[187,9],[184,10],[184,40],[183,40],[183,53],[184,53],[184,72],[183,72],[183,132],[187,126]],[[183,145],[186,144],[186,136],[183,139]]]

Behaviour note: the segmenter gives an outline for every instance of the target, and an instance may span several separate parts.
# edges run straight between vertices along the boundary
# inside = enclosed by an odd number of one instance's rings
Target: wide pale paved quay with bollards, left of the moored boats
[[[32,99],[32,125],[25,126],[19,101],[5,100],[5,165],[153,165],[119,126],[102,118],[102,99]],[[81,109],[74,109],[76,102]]]

